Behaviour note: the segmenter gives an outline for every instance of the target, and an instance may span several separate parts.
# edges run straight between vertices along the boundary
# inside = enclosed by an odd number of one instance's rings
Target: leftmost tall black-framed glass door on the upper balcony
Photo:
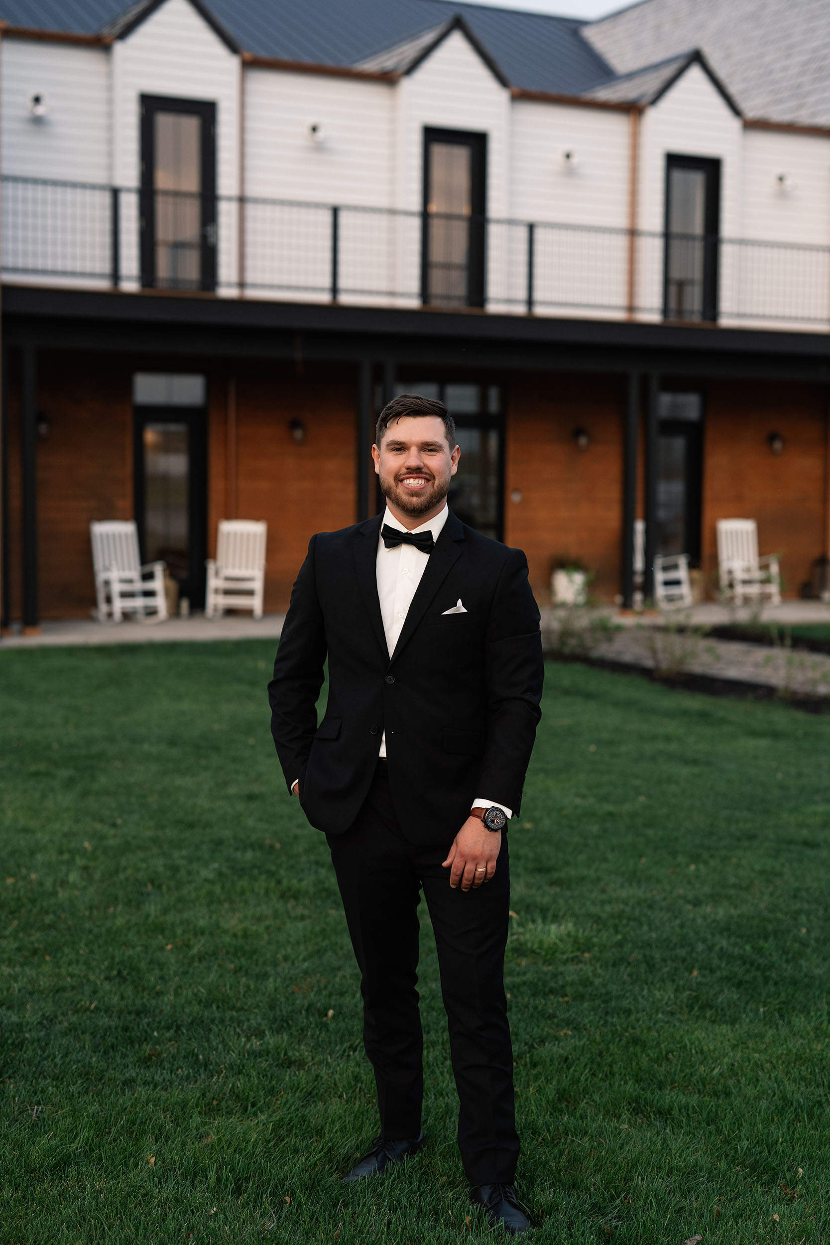
[[[217,106],[141,97],[141,269],[148,289],[217,286]]]

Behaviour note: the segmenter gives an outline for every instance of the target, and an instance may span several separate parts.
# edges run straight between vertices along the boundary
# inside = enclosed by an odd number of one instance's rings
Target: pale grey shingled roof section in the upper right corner
[[[582,35],[617,73],[699,47],[745,117],[830,126],[828,0],[642,0]]]

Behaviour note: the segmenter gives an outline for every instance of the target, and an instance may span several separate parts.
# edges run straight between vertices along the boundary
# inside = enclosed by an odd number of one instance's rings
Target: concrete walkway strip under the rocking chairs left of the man
[[[0,641],[4,649],[54,649],[63,645],[167,644],[177,640],[279,640],[285,614],[266,614],[259,621],[250,615],[189,619],[166,622],[96,622],[92,619],[65,619],[44,622],[40,635],[10,635]]]

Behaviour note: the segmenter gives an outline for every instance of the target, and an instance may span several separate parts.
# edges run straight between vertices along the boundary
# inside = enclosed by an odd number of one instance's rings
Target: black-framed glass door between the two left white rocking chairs
[[[204,410],[134,407],[136,525],[142,561],[167,563],[179,596],[202,608],[207,558]]]

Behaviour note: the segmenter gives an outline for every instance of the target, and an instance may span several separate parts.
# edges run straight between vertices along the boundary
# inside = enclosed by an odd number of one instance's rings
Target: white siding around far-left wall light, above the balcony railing
[[[110,181],[110,55],[71,44],[2,40],[2,171],[17,177]],[[32,117],[44,95],[49,112]]]

